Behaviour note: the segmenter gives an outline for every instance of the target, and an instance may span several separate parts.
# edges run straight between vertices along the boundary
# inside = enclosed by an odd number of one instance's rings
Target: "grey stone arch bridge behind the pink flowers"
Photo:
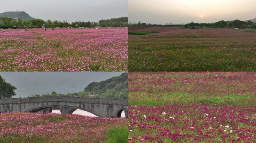
[[[45,96],[0,99],[0,112],[51,112],[60,109],[61,114],[72,114],[76,109],[99,117],[128,117],[127,99],[105,99],[70,96]]]

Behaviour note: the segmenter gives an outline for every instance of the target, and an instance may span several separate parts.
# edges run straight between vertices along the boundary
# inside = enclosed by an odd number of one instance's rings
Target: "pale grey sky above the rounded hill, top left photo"
[[[96,22],[128,16],[127,0],[1,0],[2,12],[25,11],[33,18]]]

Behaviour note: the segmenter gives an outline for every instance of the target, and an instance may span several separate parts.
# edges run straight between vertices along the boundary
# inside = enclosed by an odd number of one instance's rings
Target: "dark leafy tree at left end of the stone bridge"
[[[14,92],[15,89],[15,86],[5,82],[5,80],[0,76],[0,98],[11,98],[16,95]]]

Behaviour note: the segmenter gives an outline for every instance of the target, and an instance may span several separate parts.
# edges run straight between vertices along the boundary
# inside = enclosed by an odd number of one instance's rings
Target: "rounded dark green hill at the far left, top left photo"
[[[0,17],[9,17],[9,18],[20,18],[21,20],[27,19],[35,19],[28,15],[26,12],[4,12],[0,13]]]

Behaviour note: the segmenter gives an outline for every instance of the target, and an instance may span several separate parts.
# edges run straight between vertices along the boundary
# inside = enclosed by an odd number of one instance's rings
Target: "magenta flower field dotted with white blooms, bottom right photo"
[[[256,72],[129,72],[129,143],[255,143]]]

